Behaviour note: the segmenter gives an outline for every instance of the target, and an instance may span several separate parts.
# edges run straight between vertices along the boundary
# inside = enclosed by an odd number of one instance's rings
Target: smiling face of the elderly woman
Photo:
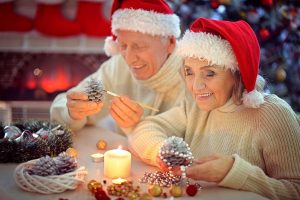
[[[186,58],[182,73],[201,110],[219,108],[231,98],[235,79],[230,70],[209,65],[206,60]]]

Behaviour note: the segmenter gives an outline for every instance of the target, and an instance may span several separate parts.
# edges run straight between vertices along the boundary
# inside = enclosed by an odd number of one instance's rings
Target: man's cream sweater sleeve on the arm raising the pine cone
[[[113,66],[114,61],[113,58],[106,61],[100,66],[100,69],[98,69],[95,73],[89,75],[84,80],[82,80],[77,86],[74,88],[71,88],[69,91],[85,91],[85,87],[87,86],[87,82],[90,80],[91,77],[101,80],[104,88],[111,88],[111,79],[113,72]],[[85,125],[88,124],[95,124],[97,120],[103,118],[108,113],[108,103],[109,103],[109,97],[107,95],[104,96],[103,103],[104,106],[102,107],[102,110],[99,113],[96,113],[91,116],[87,116],[81,120],[74,120],[70,117],[68,108],[66,106],[67,103],[67,97],[66,93],[61,93],[58,96],[55,97],[51,107],[50,107],[50,116],[51,120],[57,121],[61,124],[65,124],[69,126],[73,131],[79,130],[83,128]]]

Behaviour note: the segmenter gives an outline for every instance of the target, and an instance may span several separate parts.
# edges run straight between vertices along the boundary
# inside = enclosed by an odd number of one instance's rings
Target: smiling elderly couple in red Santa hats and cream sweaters
[[[180,20],[164,0],[115,0],[111,19],[111,58],[55,98],[53,120],[79,130],[110,114],[148,164],[163,168],[159,149],[175,135],[195,157],[189,178],[300,199],[300,123],[285,101],[263,92],[260,47],[245,21],[199,18],[177,42]],[[90,78],[121,96],[89,101]]]

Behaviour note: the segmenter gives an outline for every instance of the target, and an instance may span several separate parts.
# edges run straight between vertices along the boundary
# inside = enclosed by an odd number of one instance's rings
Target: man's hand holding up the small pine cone
[[[99,112],[103,107],[103,103],[89,101],[84,92],[70,91],[67,93],[67,107],[70,117],[80,120]]]

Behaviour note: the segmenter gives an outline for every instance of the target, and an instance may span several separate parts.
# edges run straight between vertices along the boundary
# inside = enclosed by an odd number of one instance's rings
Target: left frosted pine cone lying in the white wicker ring
[[[38,176],[51,176],[57,174],[55,161],[49,157],[39,158],[31,169],[28,169],[29,174]]]

